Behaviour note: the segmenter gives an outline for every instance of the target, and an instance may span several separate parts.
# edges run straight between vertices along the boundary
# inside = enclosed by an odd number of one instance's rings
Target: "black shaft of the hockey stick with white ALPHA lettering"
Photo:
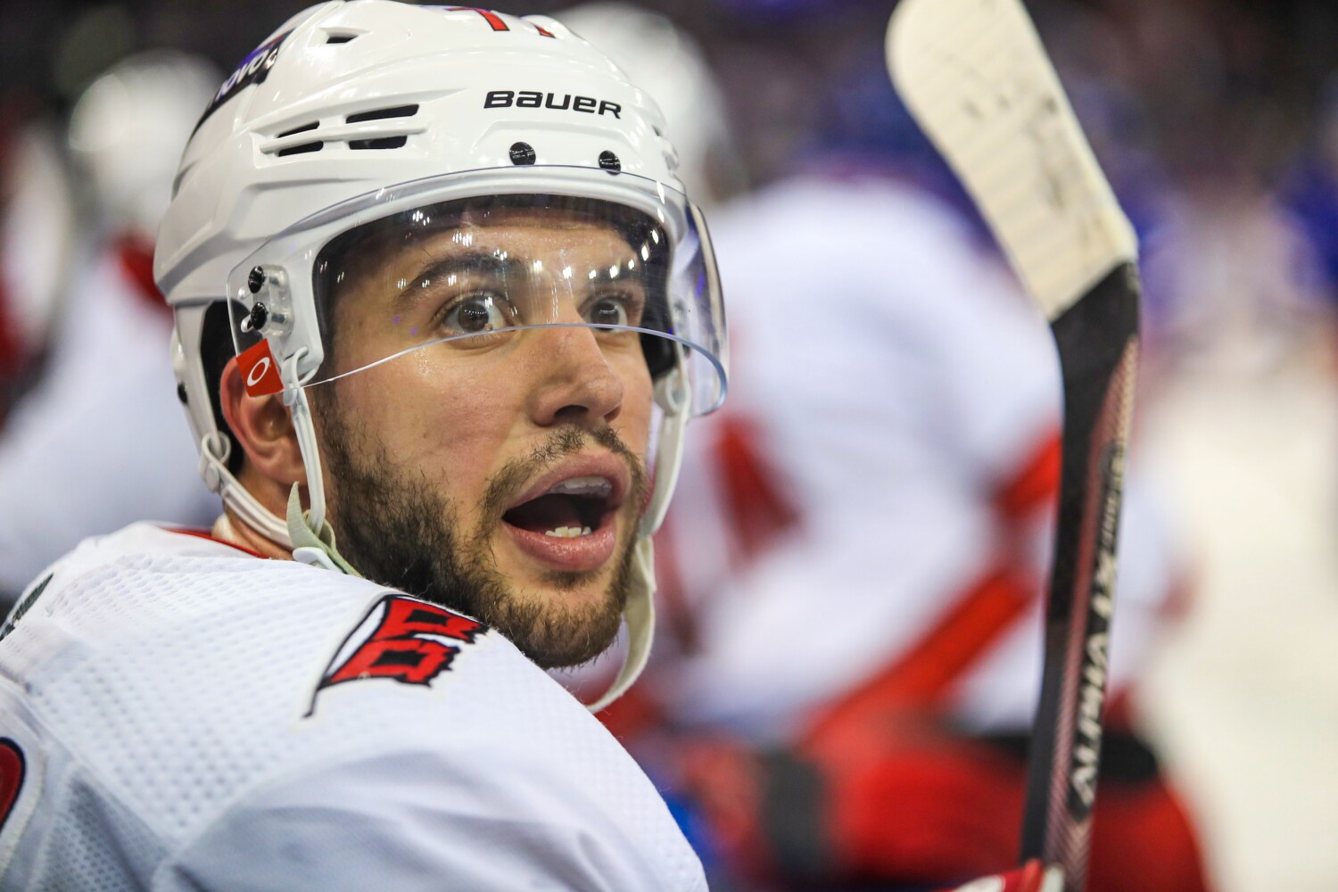
[[[1022,860],[1060,864],[1066,892],[1081,892],[1086,877],[1137,324],[1133,263],[1052,324],[1064,374],[1064,460]]]

